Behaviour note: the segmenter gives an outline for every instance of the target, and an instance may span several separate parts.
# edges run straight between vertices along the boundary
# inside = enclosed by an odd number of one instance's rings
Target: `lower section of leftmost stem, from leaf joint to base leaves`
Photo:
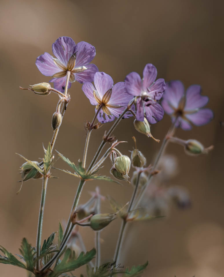
[[[37,227],[37,239],[36,239],[36,256],[37,258],[41,254],[41,235],[42,235],[42,226],[43,226],[43,213],[44,213],[44,206],[45,206],[45,199],[46,199],[46,192],[47,192],[47,182],[48,177],[43,177],[43,186],[42,186],[42,195],[41,195],[41,205],[40,205],[40,212],[39,212],[39,220],[38,220],[38,227]],[[38,260],[36,264],[36,269],[39,270],[41,261]]]

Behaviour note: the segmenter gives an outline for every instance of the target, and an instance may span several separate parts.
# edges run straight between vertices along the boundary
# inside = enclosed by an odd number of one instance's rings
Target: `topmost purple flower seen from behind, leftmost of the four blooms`
[[[71,71],[71,82],[92,82],[94,74],[98,71],[95,64],[89,64],[96,55],[95,47],[81,41],[78,44],[69,37],[60,37],[52,44],[52,52],[55,57],[45,52],[36,59],[36,66],[45,76],[52,76],[50,82],[54,82],[54,88],[64,91],[67,79],[67,71]]]

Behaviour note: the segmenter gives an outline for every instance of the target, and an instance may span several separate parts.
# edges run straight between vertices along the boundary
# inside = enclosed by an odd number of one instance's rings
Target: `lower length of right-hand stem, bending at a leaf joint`
[[[138,173],[138,176],[137,176],[137,181],[136,181],[136,184],[135,184],[135,190],[133,191],[131,201],[129,203],[128,210],[127,210],[127,217],[128,217],[129,212],[131,211],[133,202],[135,200],[135,196],[136,196],[136,192],[137,192],[137,189],[138,189],[138,184],[139,184],[139,179],[140,179],[141,173],[142,172],[140,171]],[[114,254],[114,258],[113,258],[114,263],[116,263],[117,260],[119,259],[120,249],[122,247],[122,242],[123,242],[123,238],[124,238],[124,231],[125,231],[126,223],[127,223],[127,218],[124,218],[123,221],[122,221],[122,224],[121,224],[121,229],[120,229],[119,237],[118,237],[118,240],[117,240],[117,246],[116,246],[116,250],[115,250],[115,254]]]

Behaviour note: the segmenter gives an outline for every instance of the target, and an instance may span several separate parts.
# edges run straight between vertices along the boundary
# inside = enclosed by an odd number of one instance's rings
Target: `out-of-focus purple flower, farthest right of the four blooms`
[[[191,85],[185,93],[182,82],[177,80],[167,85],[161,104],[172,121],[177,120],[176,127],[190,130],[190,123],[202,126],[213,118],[212,110],[203,108],[208,100],[208,96],[201,96],[199,85]]]

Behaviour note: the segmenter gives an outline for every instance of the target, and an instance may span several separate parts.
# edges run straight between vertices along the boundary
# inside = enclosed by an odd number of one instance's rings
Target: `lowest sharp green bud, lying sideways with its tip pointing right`
[[[115,218],[115,214],[95,214],[90,218],[90,226],[93,230],[99,231],[106,227]]]

